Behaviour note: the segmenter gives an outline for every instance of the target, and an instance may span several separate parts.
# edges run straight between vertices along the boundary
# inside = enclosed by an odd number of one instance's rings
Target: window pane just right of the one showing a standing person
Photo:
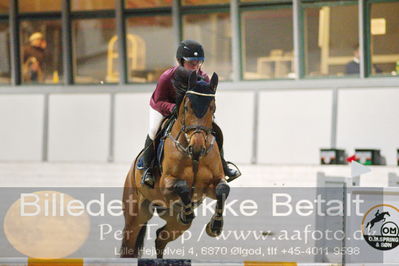
[[[107,62],[118,65],[112,47],[116,39],[115,19],[78,19],[73,23],[73,64],[76,83],[117,82],[107,80]],[[118,68],[115,68],[118,73]]]

